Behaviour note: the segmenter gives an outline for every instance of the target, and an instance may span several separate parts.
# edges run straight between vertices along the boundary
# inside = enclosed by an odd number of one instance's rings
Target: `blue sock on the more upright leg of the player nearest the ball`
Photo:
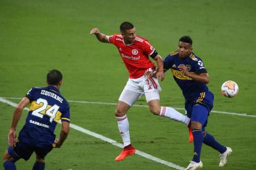
[[[194,137],[194,157],[192,161],[200,162],[200,155],[202,149],[202,141],[204,140],[204,135],[202,134],[201,129],[194,129],[192,130],[193,137]]]

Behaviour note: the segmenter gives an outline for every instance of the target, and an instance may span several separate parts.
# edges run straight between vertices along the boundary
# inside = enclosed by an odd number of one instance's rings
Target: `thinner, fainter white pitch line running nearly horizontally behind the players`
[[[0,97],[5,99],[21,99],[21,98],[13,98],[13,97]],[[99,101],[74,101],[74,100],[68,100],[70,103],[86,103],[86,104],[95,104],[95,105],[117,105],[117,103],[108,103],[108,102],[99,102]],[[148,105],[132,105],[136,107],[144,107],[148,108]],[[174,108],[176,110],[185,110],[184,108]],[[216,111],[212,110],[211,113],[219,113],[224,115],[233,115],[233,116],[245,116],[245,117],[252,117],[256,118],[256,115],[248,115],[248,113],[234,113],[234,112],[228,112],[228,111]]]

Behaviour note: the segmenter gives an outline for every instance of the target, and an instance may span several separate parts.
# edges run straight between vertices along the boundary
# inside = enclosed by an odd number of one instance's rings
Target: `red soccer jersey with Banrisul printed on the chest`
[[[154,47],[145,38],[136,36],[131,45],[125,45],[121,34],[115,34],[108,38],[119,50],[119,54],[129,71],[129,77],[137,79],[143,76],[147,69],[155,69],[149,55],[153,54]]]

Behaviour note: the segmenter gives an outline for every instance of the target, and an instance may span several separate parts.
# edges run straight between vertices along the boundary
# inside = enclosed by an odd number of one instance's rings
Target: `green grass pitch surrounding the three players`
[[[45,86],[45,74],[59,69],[62,94],[72,101],[117,103],[128,78],[117,49],[90,35],[93,27],[112,35],[131,21],[137,35],[148,38],[165,57],[177,49],[178,38],[190,35],[194,52],[206,65],[214,93],[214,111],[255,115],[256,2],[246,1],[0,1],[0,97],[21,98],[32,86]],[[221,96],[221,84],[233,80],[240,93]],[[160,82],[161,105],[183,108],[183,96],[170,72]],[[8,99],[18,103],[18,99]],[[146,105],[145,98],[136,105]],[[70,103],[71,123],[121,142],[115,105]],[[13,106],[0,102],[0,155],[8,146]],[[183,110],[180,110],[183,113]],[[153,116],[134,106],[127,113],[136,149],[181,167],[192,159],[193,144],[181,123]],[[18,131],[25,122],[23,111]],[[55,133],[58,136],[60,125]],[[233,149],[222,169],[255,169],[256,118],[211,113],[207,131]],[[135,155],[115,162],[119,147],[71,129],[61,149],[46,157],[45,169],[174,169]],[[203,169],[218,169],[219,154],[203,145]],[[20,160],[17,169],[32,169]],[[1,163],[2,164],[2,163]],[[3,166],[0,166],[3,169]]]

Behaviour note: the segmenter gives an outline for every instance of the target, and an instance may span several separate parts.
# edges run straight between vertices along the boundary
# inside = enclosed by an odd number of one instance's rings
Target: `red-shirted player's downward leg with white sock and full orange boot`
[[[122,161],[125,159],[125,157],[135,154],[136,152],[134,147],[131,145],[129,122],[126,113],[140,95],[141,94],[139,93],[126,89],[124,89],[120,95],[119,103],[117,105],[117,109],[115,110],[115,116],[117,118],[117,125],[124,143],[124,149],[119,156],[115,158],[115,161]]]

